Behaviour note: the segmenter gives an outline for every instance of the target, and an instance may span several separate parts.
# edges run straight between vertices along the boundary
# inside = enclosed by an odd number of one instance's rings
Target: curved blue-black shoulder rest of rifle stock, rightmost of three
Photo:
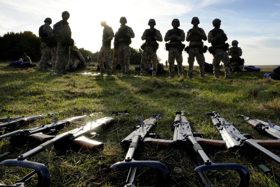
[[[241,164],[217,164],[212,162],[211,165],[201,165],[195,168],[196,172],[204,172],[204,171],[211,171],[211,170],[234,170],[239,174],[240,183],[237,187],[246,187],[249,185],[250,181],[250,174],[246,167]]]

